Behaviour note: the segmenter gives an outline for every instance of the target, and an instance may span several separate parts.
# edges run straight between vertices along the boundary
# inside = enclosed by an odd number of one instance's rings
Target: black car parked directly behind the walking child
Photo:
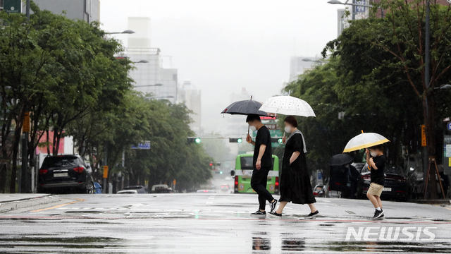
[[[407,176],[404,175],[402,169],[390,164],[385,165],[384,169],[385,184],[381,198],[394,198],[400,201],[406,201],[409,198],[409,183]],[[359,183],[357,184],[357,198],[366,198],[366,192],[371,183],[371,173],[368,165],[360,172]]]

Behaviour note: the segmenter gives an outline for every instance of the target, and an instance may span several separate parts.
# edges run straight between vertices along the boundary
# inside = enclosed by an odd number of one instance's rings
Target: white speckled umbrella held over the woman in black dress
[[[285,116],[316,116],[306,101],[289,95],[271,97],[259,110]]]

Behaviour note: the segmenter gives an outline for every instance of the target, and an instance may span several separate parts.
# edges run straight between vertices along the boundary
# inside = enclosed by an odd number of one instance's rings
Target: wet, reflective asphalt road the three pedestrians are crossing
[[[307,205],[289,204],[273,219],[249,215],[256,195],[61,195],[58,203],[1,213],[0,253],[451,252],[451,206],[383,204],[386,218],[374,222],[368,200],[318,198],[321,217],[306,219]],[[345,241],[350,226],[436,229],[426,242]]]

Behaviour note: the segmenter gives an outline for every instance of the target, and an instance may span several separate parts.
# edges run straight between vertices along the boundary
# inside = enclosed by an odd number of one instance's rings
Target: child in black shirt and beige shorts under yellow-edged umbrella
[[[376,145],[366,149],[366,163],[371,172],[371,183],[366,196],[373,203],[376,211],[371,219],[383,219],[384,211],[382,210],[381,194],[385,184],[385,156],[383,155],[383,146]]]

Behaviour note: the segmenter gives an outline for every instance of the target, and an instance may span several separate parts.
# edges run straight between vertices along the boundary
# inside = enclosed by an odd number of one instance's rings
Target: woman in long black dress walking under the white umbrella
[[[307,217],[316,217],[319,215],[319,211],[316,210],[314,205],[316,200],[307,171],[307,159],[305,158],[307,149],[304,136],[297,129],[297,121],[294,116],[287,116],[284,123],[285,132],[291,133],[291,135],[285,141],[282,174],[280,176],[280,205],[276,211],[271,212],[271,215],[282,216],[285,205],[292,202],[309,205],[310,214]]]

